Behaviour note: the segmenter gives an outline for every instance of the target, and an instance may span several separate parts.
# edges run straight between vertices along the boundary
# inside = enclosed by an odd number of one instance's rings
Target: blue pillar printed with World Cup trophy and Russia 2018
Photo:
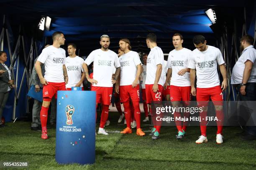
[[[95,91],[58,91],[57,163],[95,163],[95,106]]]

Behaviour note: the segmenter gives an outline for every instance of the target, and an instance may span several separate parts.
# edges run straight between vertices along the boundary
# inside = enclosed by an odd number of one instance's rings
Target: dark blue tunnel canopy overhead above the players
[[[197,34],[205,35],[208,44],[214,44],[216,35],[210,28],[212,22],[205,11],[209,8],[219,10],[216,12],[217,22],[230,16],[241,19],[243,8],[253,7],[254,1],[2,0],[1,6],[0,13],[9,17],[11,25],[22,23],[26,25],[27,32],[33,32],[33,35],[40,35],[36,26],[41,16],[49,16],[52,19],[50,30],[41,33],[41,37],[43,35],[48,37],[49,44],[51,34],[61,31],[67,39],[66,44],[76,43],[80,55],[88,55],[92,50],[100,47],[99,39],[102,34],[111,37],[110,49],[115,51],[118,49],[118,40],[127,37],[131,41],[133,50],[148,52],[145,37],[149,32],[157,35],[158,46],[164,53],[173,49],[172,35],[175,32],[182,33],[184,47],[190,49],[194,48],[192,37]]]

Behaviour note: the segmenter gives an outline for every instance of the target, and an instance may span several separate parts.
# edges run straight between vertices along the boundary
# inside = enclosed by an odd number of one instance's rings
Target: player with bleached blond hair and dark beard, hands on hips
[[[100,37],[100,45],[100,49],[94,50],[88,55],[82,67],[87,80],[92,83],[92,91],[96,91],[96,108],[98,103],[102,103],[98,134],[108,135],[104,126],[108,119],[108,108],[111,103],[113,84],[120,74],[120,62],[116,53],[108,49],[110,45],[110,37],[108,35]],[[92,62],[94,62],[93,79],[90,78],[87,67]],[[116,68],[114,79],[112,78],[113,67]]]

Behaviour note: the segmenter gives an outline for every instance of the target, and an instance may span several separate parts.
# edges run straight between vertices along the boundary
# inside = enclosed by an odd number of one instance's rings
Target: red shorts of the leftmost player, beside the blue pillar
[[[51,101],[53,96],[57,98],[57,91],[59,90],[67,90],[65,82],[48,82],[48,84],[43,87],[43,100]]]

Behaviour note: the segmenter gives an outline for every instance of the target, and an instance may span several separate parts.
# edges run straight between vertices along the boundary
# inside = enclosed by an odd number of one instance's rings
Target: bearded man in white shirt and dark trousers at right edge
[[[241,38],[242,55],[232,70],[231,84],[237,87],[240,101],[256,101],[256,50],[253,42],[254,39],[250,35]],[[246,126],[240,135],[243,140],[256,140],[256,126]]]

